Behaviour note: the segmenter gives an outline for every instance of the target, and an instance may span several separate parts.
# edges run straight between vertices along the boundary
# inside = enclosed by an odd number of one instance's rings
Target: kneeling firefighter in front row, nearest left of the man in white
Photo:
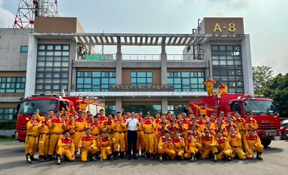
[[[101,156],[103,160],[113,160],[111,158],[112,149],[111,144],[112,140],[109,136],[106,136],[106,131],[101,132],[101,137],[97,139],[97,150],[101,151]]]

